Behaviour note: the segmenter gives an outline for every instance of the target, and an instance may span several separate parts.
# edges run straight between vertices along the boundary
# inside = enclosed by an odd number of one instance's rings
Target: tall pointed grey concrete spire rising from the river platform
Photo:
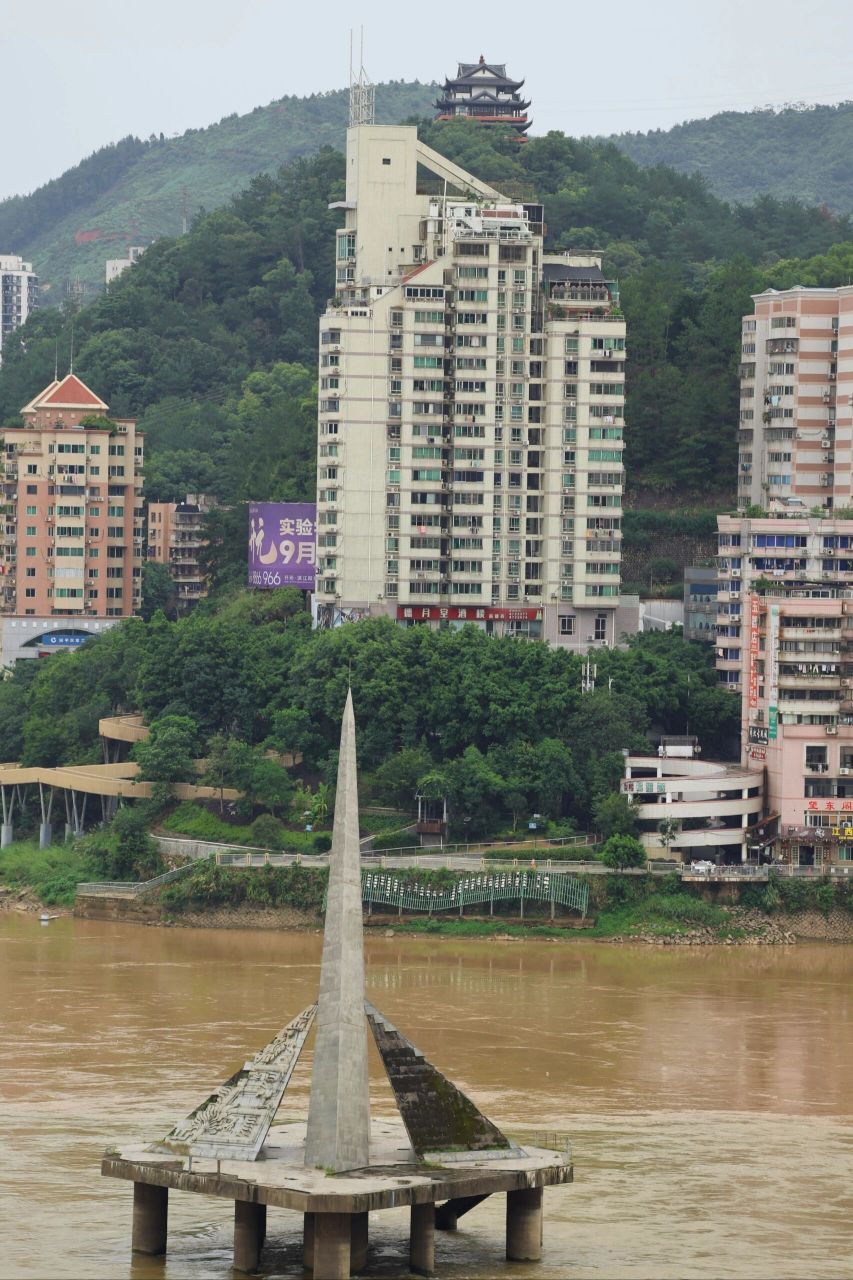
[[[359,783],[350,690],[341,724],[305,1164],[336,1172],[360,1169],[368,1164],[369,1139]]]

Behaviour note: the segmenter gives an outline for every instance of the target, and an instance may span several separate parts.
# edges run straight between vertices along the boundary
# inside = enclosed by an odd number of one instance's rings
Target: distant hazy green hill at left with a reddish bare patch
[[[429,84],[378,84],[377,122],[424,115],[434,97]],[[283,97],[178,138],[123,138],[32,195],[0,202],[0,253],[32,260],[45,302],[61,301],[77,275],[100,289],[105,260],[122,257],[128,244],[177,236],[184,212],[192,219],[227,204],[259,173],[341,147],[347,114],[348,95],[339,90]]]

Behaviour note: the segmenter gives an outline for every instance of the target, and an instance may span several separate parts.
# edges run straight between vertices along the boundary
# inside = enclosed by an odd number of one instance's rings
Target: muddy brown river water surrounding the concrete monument
[[[132,1260],[100,1156],[186,1115],[315,998],[319,963],[319,934],[0,916],[0,1276],[231,1277],[231,1202],[173,1193],[168,1257]],[[542,1263],[503,1261],[496,1199],[439,1233],[439,1275],[853,1275],[852,979],[829,945],[370,938],[369,998],[492,1119],[573,1142]],[[264,1274],[301,1275],[298,1242],[270,1211]],[[403,1212],[373,1215],[370,1271],[407,1275],[405,1242]]]

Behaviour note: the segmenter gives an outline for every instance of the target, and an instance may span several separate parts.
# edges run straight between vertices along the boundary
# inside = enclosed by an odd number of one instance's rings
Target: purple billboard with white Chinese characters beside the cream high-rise
[[[248,507],[248,585],[314,590],[316,504],[252,502]]]

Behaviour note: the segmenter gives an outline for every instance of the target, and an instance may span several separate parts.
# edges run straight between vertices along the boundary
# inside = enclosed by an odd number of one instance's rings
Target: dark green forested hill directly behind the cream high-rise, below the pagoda
[[[853,228],[793,201],[731,209],[704,183],[640,169],[615,146],[560,133],[524,147],[466,122],[421,136],[546,209],[549,246],[598,246],[629,330],[631,486],[713,502],[734,492],[740,316],[767,285],[838,284]],[[44,308],[4,346],[0,422],[67,364],[118,416],[141,416],[146,497],[225,502],[314,492],[318,315],[334,287],[329,201],[343,156],[324,148],[255,179],[187,236],[154,244],[77,314]]]

